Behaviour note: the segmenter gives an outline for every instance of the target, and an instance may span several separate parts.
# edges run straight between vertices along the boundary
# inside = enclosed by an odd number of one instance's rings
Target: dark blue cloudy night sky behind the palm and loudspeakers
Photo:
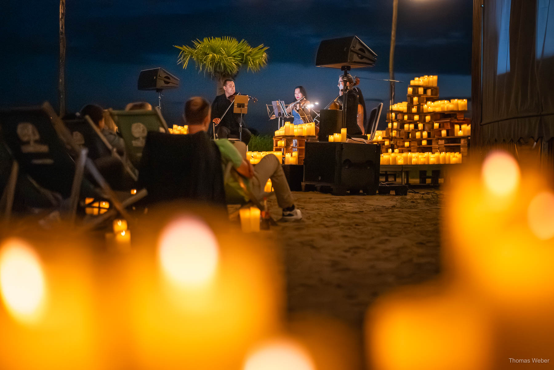
[[[410,79],[439,75],[441,98],[469,98],[471,87],[471,11],[468,0],[399,0],[395,53],[396,100],[406,100]],[[57,108],[57,0],[8,0],[0,15],[4,74],[0,106],[38,105]],[[66,103],[69,111],[96,103],[122,109],[145,100],[157,104],[156,92],[137,90],[142,69],[163,67],[181,80],[167,90],[163,115],[172,124],[183,102],[193,95],[212,101],[216,83],[194,63],[177,65],[173,45],[210,36],[232,36],[250,45],[269,47],[268,66],[259,73],[243,69],[237,90],[257,97],[249,126],[266,133],[265,104],[294,100],[304,85],[312,102],[326,105],[337,95],[340,70],[315,67],[322,39],[356,35],[378,56],[376,66],[353,70],[361,78],[388,78],[392,0],[176,1],[68,0],[66,4]],[[368,109],[386,105],[388,83],[362,79]],[[384,119],[382,115],[382,119]]]

